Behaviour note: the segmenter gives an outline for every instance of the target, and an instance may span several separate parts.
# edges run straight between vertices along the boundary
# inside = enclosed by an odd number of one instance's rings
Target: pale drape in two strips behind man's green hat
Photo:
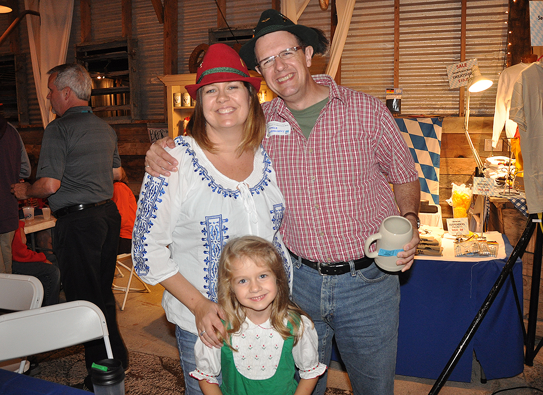
[[[332,78],[336,77],[339,67],[339,61],[345,46],[347,33],[351,24],[352,11],[355,9],[356,0],[336,0],[336,10],[338,13],[338,26],[336,33],[330,45],[330,60],[326,67],[326,74]],[[307,7],[309,0],[283,0],[281,2],[282,14],[294,23],[298,23],[298,18]]]

